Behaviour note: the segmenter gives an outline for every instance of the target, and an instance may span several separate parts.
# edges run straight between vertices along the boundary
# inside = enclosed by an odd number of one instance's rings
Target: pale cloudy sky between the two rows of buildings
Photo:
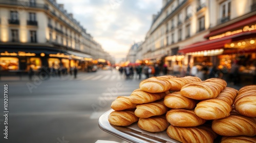
[[[134,42],[143,41],[161,0],[57,0],[87,33],[115,57],[125,58]]]

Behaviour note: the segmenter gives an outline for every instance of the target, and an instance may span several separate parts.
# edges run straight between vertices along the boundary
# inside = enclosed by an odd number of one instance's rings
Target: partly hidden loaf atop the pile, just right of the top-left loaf
[[[191,81],[199,82],[201,81],[201,79],[198,77],[187,76],[183,78],[171,78],[171,79],[168,79],[167,81],[170,82],[171,84],[169,90],[180,91],[181,87],[187,82],[191,82]]]

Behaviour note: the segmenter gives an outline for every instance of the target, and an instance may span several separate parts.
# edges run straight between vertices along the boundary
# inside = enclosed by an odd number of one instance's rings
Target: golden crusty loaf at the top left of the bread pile
[[[167,79],[172,78],[172,76],[164,77],[152,77],[145,79],[140,82],[140,90],[150,92],[150,93],[160,93],[168,91],[170,88],[170,83]]]

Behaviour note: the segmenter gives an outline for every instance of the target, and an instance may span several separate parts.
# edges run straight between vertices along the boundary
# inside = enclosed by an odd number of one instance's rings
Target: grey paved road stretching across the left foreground
[[[113,70],[49,80],[27,77],[0,82],[0,142],[95,142],[121,139],[102,131],[98,117],[117,96],[129,96],[140,80],[125,80]],[[8,84],[8,140],[4,139],[4,84]]]

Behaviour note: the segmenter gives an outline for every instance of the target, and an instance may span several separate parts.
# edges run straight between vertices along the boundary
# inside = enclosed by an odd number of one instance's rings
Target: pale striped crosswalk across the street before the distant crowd
[[[52,77],[52,80],[60,80],[60,81],[121,81],[125,80],[124,76],[120,75],[78,75],[77,78],[74,76],[61,76],[61,77]],[[138,80],[136,78],[130,80]]]

